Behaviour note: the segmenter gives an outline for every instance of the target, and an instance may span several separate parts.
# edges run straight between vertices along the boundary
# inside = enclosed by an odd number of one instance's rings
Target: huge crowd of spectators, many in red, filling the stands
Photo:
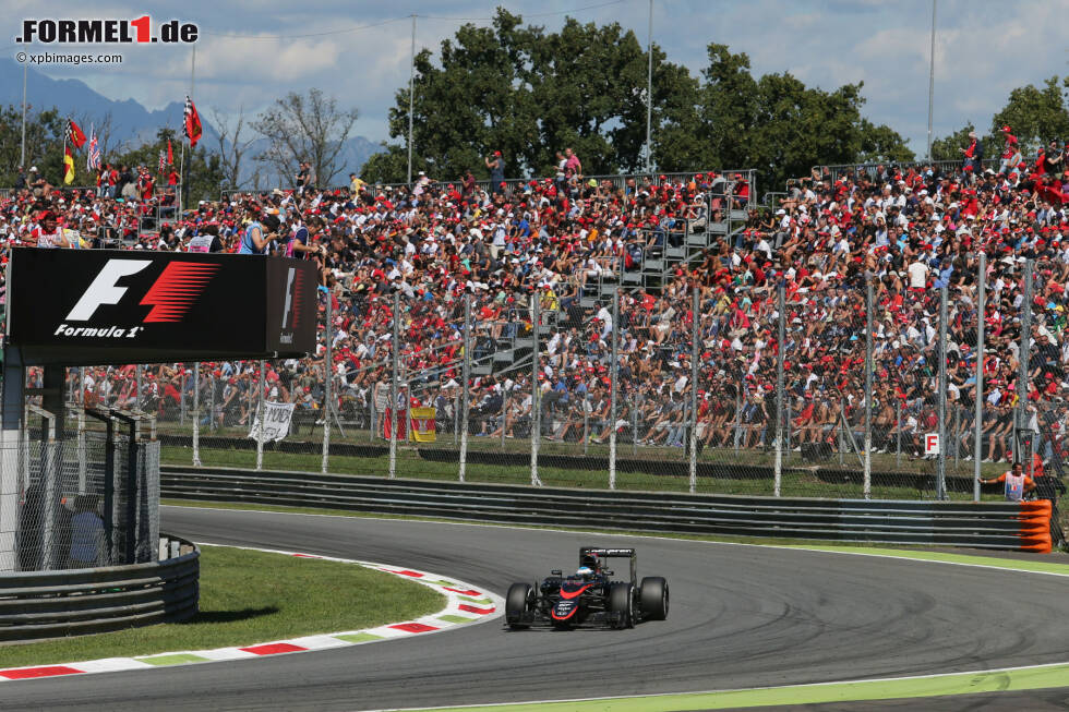
[[[149,246],[315,261],[321,302],[332,300],[334,314],[321,350],[331,339],[335,393],[346,417],[368,422],[369,411],[389,407],[393,300],[399,294],[404,398],[437,407],[440,429],[452,427],[461,390],[464,298],[470,294],[472,357],[494,366],[469,384],[472,436],[528,436],[537,403],[549,439],[599,442],[615,427],[625,441],[669,448],[685,447],[695,387],[702,447],[771,447],[782,351],[792,448],[819,452],[850,442],[856,449],[868,398],[874,448],[901,447],[920,457],[923,435],[936,430],[936,337],[946,286],[948,447],[960,448],[966,459],[974,451],[977,269],[984,252],[982,457],[1013,457],[1013,413],[1024,398],[1040,451],[1060,472],[1069,414],[1067,152],[1052,141],[1037,157],[1024,159],[1008,126],[1002,140],[1002,155],[987,162],[973,142],[952,166],[815,170],[792,181],[770,208],[752,205],[743,174],[590,180],[570,150],[560,156],[554,176],[495,180],[485,188],[470,172],[455,181],[420,173],[403,186],[372,185],[356,176],[337,190],[305,181],[293,191],[201,203]],[[500,154],[485,165],[501,178]],[[86,219],[92,226],[100,215],[130,209],[96,195],[52,197],[49,209],[75,229]],[[40,200],[24,191],[0,203],[0,234],[7,232],[8,244],[39,244]],[[726,210],[745,210],[745,227],[713,236],[711,227]],[[709,246],[649,278],[646,261],[663,258],[687,233],[707,230]],[[1033,266],[1034,346],[1022,384],[1026,261]],[[626,280],[627,273],[645,276]],[[615,321],[598,289],[604,283],[623,283]],[[779,283],[785,291],[782,343]],[[699,363],[692,384],[695,290]],[[526,353],[532,300],[544,326],[537,386],[529,361],[493,359],[509,349]],[[869,316],[870,391],[864,370]],[[614,330],[615,423],[609,406]],[[268,395],[319,414],[321,369],[322,358],[268,364]],[[207,420],[248,424],[257,370],[255,363],[206,364],[204,378],[214,384],[211,400],[217,405]],[[149,369],[153,403],[178,403],[183,384],[192,388],[182,372]],[[95,388],[91,397],[131,397],[129,370],[87,375]],[[104,395],[99,384],[108,379],[113,383]]]

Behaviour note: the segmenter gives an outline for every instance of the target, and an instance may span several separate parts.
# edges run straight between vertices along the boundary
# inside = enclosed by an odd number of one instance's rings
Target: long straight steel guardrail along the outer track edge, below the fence
[[[161,496],[494,523],[1018,550],[1014,503],[767,498],[161,468]],[[1032,522],[1034,524],[1034,522]]]

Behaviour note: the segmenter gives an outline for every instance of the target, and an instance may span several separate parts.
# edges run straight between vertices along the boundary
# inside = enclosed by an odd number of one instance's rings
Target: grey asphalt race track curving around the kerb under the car
[[[639,576],[668,578],[671,611],[666,622],[632,630],[512,632],[492,622],[336,651],[4,684],[0,708],[361,710],[1069,661],[1069,595],[1059,577],[704,542],[178,507],[164,509],[163,530],[410,566],[502,595],[514,580],[574,568],[582,544],[634,545]],[[1000,708],[998,696],[980,697],[984,709]],[[1065,695],[1013,695],[1011,704],[1030,709],[1030,699],[1047,709]]]

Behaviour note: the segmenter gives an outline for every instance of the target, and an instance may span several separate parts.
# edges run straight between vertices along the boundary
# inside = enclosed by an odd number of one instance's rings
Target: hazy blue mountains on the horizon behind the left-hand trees
[[[22,106],[22,64],[10,60],[0,59],[0,105]],[[184,97],[181,97],[184,100]],[[116,101],[98,94],[89,88],[81,80],[55,80],[37,70],[29,68],[26,74],[26,101],[37,109],[58,108],[63,114],[71,117],[87,117],[89,123],[103,118],[111,112],[112,143],[122,143],[130,146],[139,146],[145,141],[155,137],[156,132],[161,126],[171,126],[176,131],[181,129],[182,112],[184,106],[182,100],[171,101],[163,109],[149,111],[133,99]],[[201,123],[204,129],[204,136],[201,141],[209,149],[218,146],[218,133],[207,120],[203,107],[201,108]],[[82,126],[88,131],[89,126]],[[257,140],[250,148],[248,156],[252,157],[262,153],[266,140]],[[368,158],[382,150],[382,147],[363,136],[355,136],[346,142],[341,150],[340,165],[344,167],[340,178],[335,178],[336,183],[348,182],[350,171],[359,171],[367,162]],[[256,166],[253,161],[245,161],[242,169],[242,179],[249,179]],[[274,184],[276,181],[271,181]],[[269,186],[266,185],[265,186]]]

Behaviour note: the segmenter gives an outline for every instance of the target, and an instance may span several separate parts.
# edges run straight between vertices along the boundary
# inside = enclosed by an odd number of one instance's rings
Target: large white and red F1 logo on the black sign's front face
[[[101,305],[118,304],[128,288],[118,287],[116,282],[151,264],[151,260],[109,260],[67,315],[67,321],[88,322]],[[144,323],[180,322],[218,268],[218,265],[200,262],[168,263],[141,300],[142,305],[153,307]]]

